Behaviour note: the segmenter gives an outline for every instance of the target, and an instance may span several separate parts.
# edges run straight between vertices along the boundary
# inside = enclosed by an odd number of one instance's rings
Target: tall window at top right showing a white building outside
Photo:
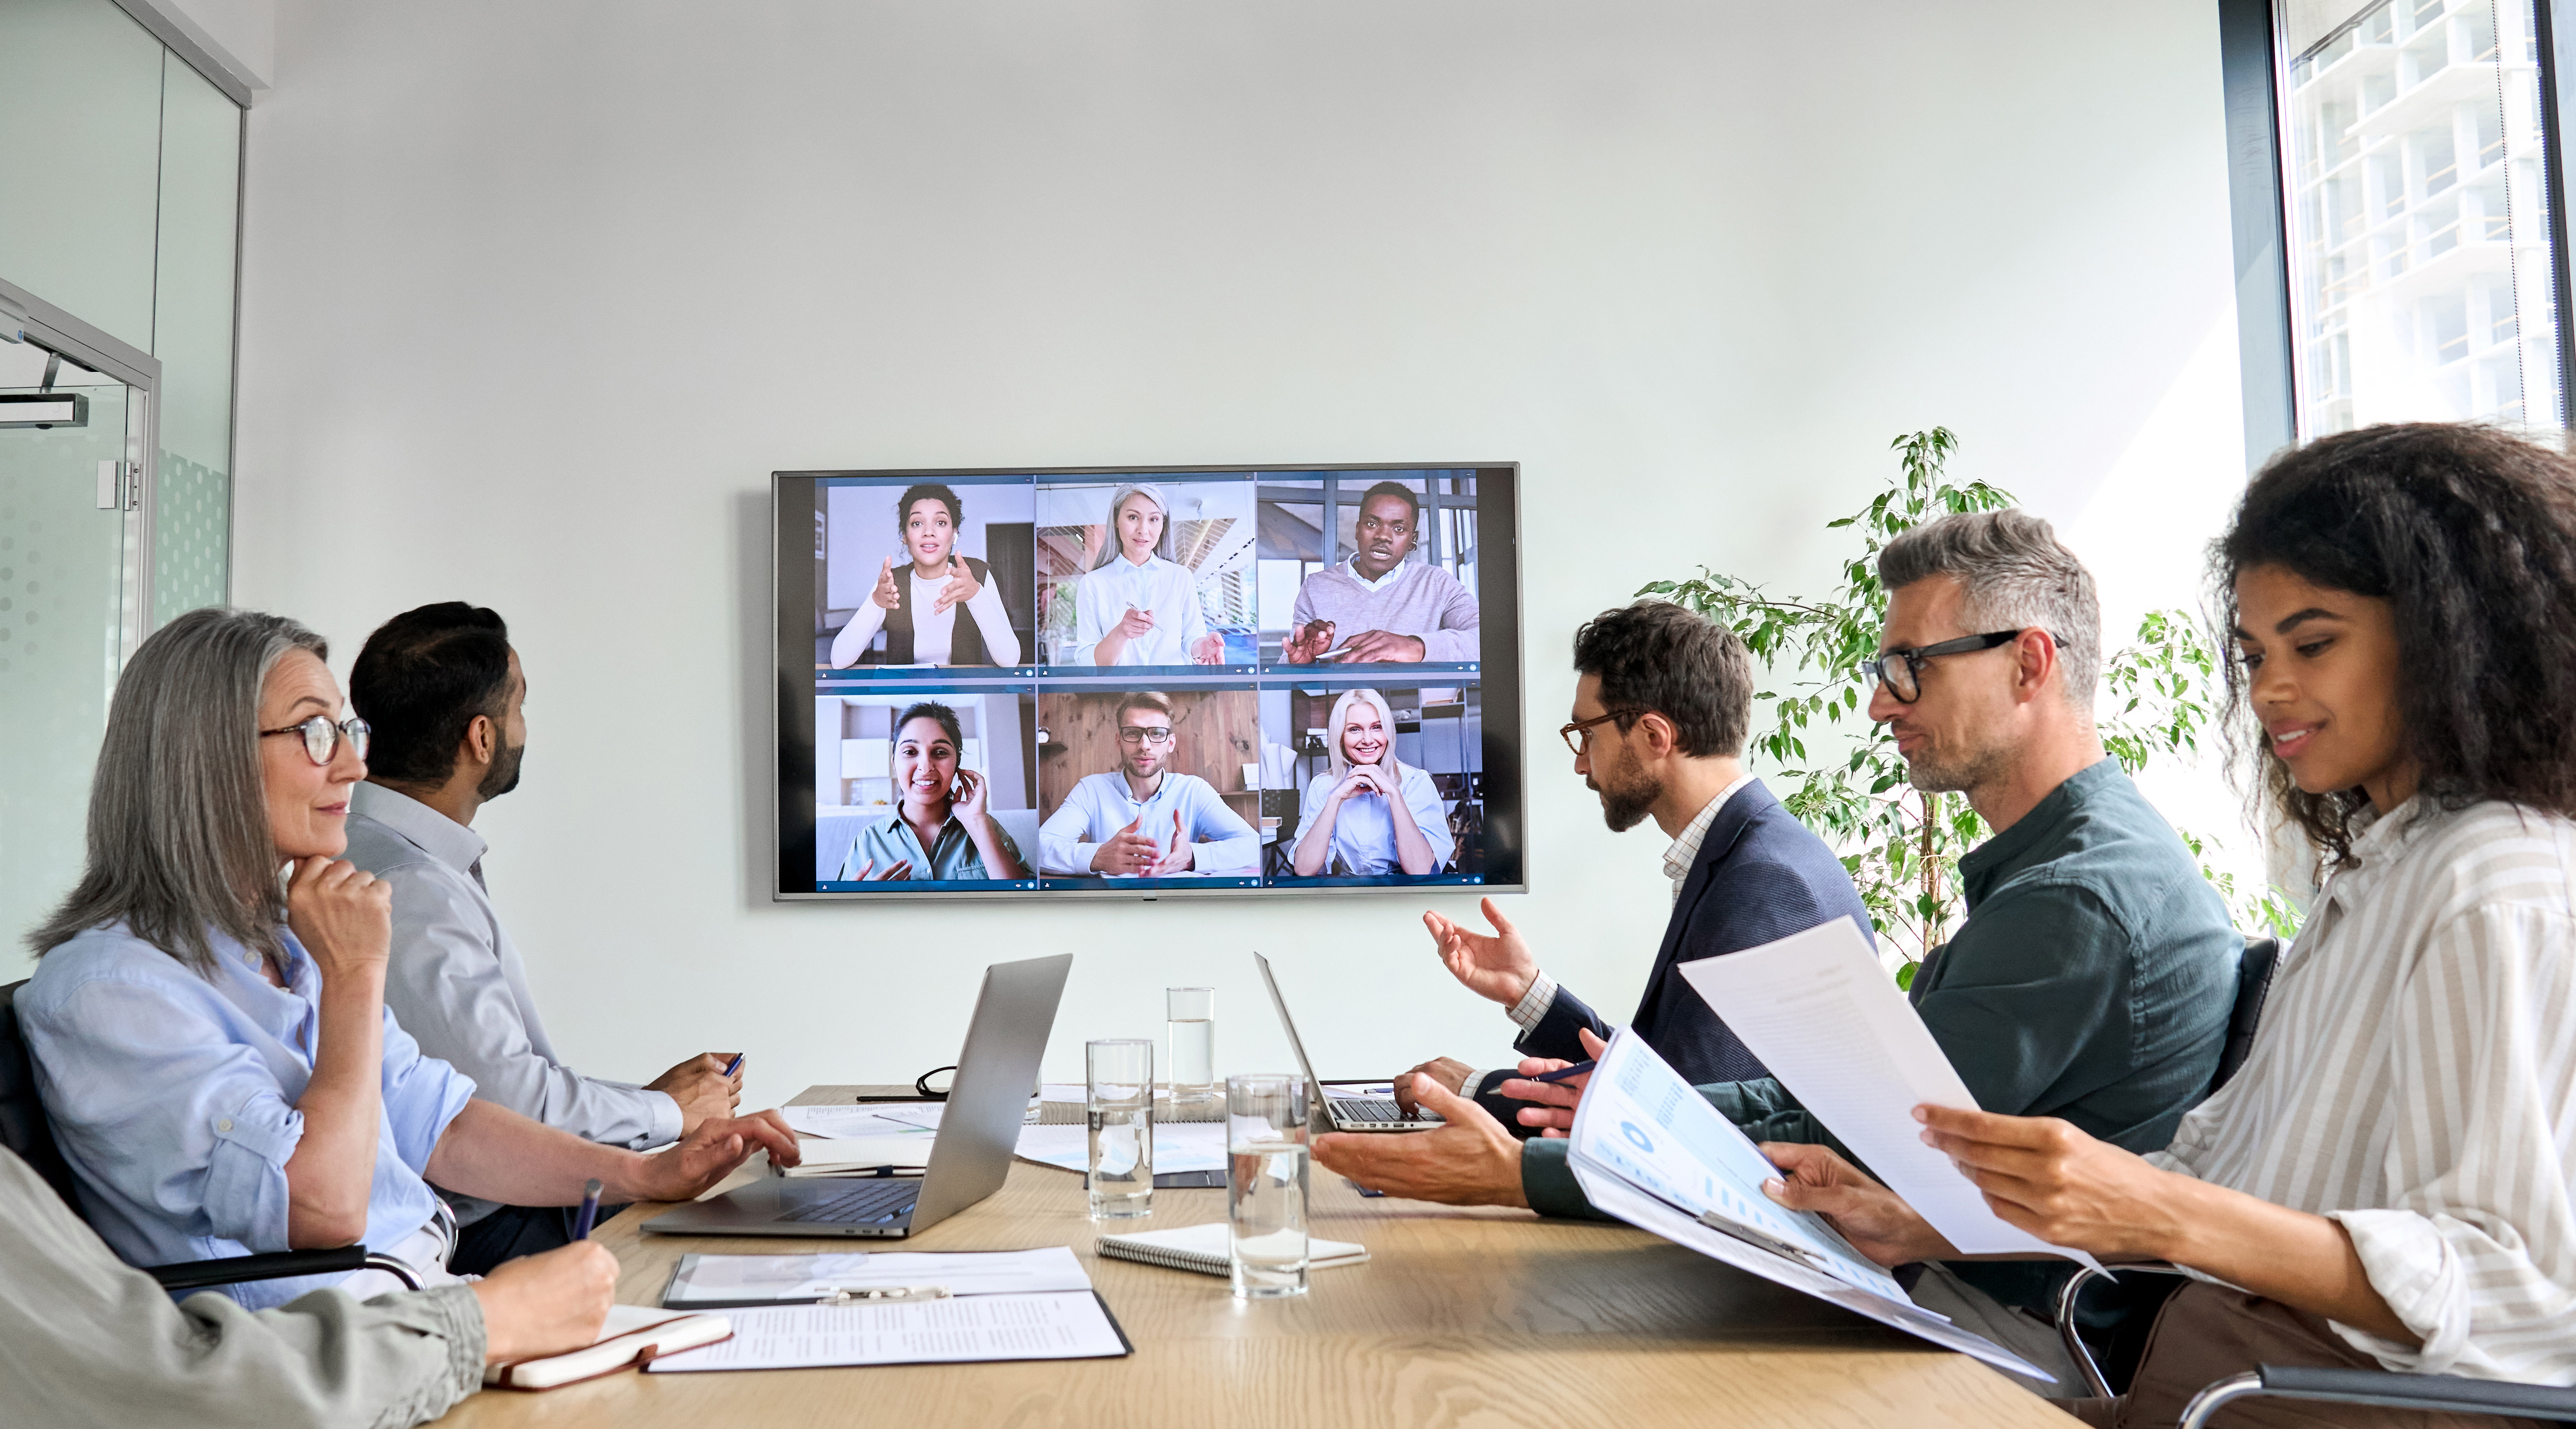
[[[2249,427],[2275,433],[2249,456],[2372,422],[2563,430],[2550,0],[2221,10],[2239,276],[2285,299],[2239,304]]]

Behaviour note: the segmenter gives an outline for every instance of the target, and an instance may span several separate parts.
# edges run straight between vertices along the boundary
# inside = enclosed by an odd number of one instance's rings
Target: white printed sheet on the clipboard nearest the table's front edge
[[[667,1354],[644,1370],[688,1375],[1128,1354],[1108,1308],[1090,1290],[961,1295],[896,1305],[781,1305],[726,1311],[726,1318],[734,1321],[734,1339]]]

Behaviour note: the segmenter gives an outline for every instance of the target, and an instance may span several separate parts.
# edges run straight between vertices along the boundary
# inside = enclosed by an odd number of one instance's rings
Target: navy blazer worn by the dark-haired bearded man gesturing
[[[1628,1025],[1692,1087],[1770,1076],[1682,978],[1682,963],[1759,948],[1834,917],[1850,917],[1860,924],[1860,935],[1870,937],[1870,914],[1860,906],[1860,891],[1852,888],[1852,875],[1842,870],[1834,850],[1790,819],[1762,780],[1747,783],[1700,837],[1700,857],[1692,860],[1682,896],[1672,904],[1646,996]],[[1574,989],[1558,986],[1548,1014],[1512,1048],[1522,1056],[1582,1061],[1587,1053],[1574,1035],[1577,1027],[1589,1027],[1595,1038],[1610,1035],[1610,1022],[1600,1012],[1574,996]],[[1476,1099],[1502,1125],[1528,1130],[1512,1115],[1520,1102],[1489,1092]]]

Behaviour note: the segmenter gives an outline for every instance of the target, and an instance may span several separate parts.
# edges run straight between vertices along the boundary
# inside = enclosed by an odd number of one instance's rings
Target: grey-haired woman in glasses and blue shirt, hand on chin
[[[363,1241],[440,1285],[453,1228],[430,1182],[507,1205],[685,1200],[775,1112],[708,1117],[670,1153],[595,1146],[477,1102],[384,1007],[386,886],[340,860],[366,721],[327,646],[247,610],[147,639],[108,705],[88,870],[28,945],[18,1020],[82,1210],[129,1264]],[[232,1285],[247,1308],[376,1269]]]

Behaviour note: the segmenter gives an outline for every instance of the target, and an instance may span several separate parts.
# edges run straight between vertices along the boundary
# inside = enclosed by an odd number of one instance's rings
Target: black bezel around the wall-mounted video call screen
[[[1476,474],[1476,605],[1484,729],[1484,839],[1486,860],[1507,852],[1512,878],[1479,883],[1329,883],[1257,888],[920,888],[920,891],[824,891],[788,886],[791,860],[814,863],[814,500],[822,479],[943,481],[976,476],[1213,476],[1275,474],[1298,479],[1316,471],[1473,471]],[[788,481],[801,481],[801,505],[781,502]],[[1499,497],[1499,500],[1489,500]],[[1499,518],[1499,520],[1497,520]],[[791,559],[793,554],[793,559]],[[1502,579],[1497,579],[1502,577]],[[788,605],[793,608],[793,618]],[[773,904],[878,904],[878,901],[1162,901],[1162,899],[1334,899],[1383,893],[1528,893],[1528,682],[1520,592],[1520,463],[1517,461],[1309,461],[1309,463],[1213,463],[1213,466],[891,466],[891,469],[806,469],[770,471],[770,744],[778,757],[770,778],[770,901]],[[961,680],[979,680],[961,669]],[[1043,672],[1038,675],[1043,687]],[[1260,675],[1255,675],[1260,680]],[[799,808],[804,819],[799,824]]]

